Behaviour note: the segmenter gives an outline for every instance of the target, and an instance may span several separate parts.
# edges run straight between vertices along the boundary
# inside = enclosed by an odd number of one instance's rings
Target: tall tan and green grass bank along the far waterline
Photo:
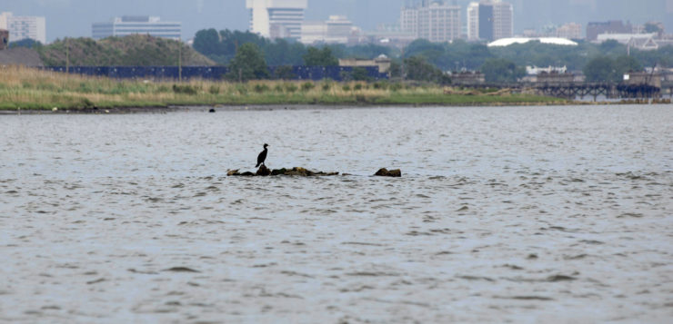
[[[474,92],[439,85],[259,81],[117,81],[0,67],[0,110],[166,107],[171,105],[355,104],[498,105],[563,104],[566,100],[529,94]]]

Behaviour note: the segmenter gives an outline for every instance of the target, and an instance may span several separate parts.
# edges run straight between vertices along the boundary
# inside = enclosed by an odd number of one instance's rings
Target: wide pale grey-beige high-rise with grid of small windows
[[[423,0],[420,5],[405,6],[400,14],[402,30],[430,42],[449,42],[460,38],[460,6],[446,1]]]

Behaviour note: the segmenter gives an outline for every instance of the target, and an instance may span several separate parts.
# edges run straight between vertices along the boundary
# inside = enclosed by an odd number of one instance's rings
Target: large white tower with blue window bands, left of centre
[[[308,0],[246,0],[250,31],[267,38],[301,38]]]

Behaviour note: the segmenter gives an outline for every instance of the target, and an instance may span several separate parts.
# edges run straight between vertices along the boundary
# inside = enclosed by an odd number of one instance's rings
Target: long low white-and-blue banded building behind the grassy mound
[[[130,34],[149,34],[156,37],[180,40],[182,23],[162,22],[159,17],[147,15],[125,15],[113,18],[107,23],[95,23],[91,27],[94,39]]]

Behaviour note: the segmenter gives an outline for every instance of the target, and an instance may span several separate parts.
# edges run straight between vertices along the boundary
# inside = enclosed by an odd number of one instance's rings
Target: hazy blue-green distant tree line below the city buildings
[[[578,46],[533,41],[488,47],[462,40],[437,44],[418,39],[399,50],[377,44],[314,47],[283,39],[271,41],[249,32],[215,29],[199,31],[194,40],[196,51],[225,65],[242,63],[234,58],[243,44],[254,44],[258,56],[271,66],[334,65],[338,58],[371,59],[386,54],[393,61],[391,76],[404,74],[409,80],[433,82],[447,82],[443,72],[465,70],[482,72],[489,83],[512,82],[526,74],[527,65],[566,66],[569,71],[582,71],[590,82],[619,82],[625,72],[640,71],[644,66],[673,67],[673,46],[655,51],[631,49],[627,55],[626,45],[616,41],[581,42]]]

